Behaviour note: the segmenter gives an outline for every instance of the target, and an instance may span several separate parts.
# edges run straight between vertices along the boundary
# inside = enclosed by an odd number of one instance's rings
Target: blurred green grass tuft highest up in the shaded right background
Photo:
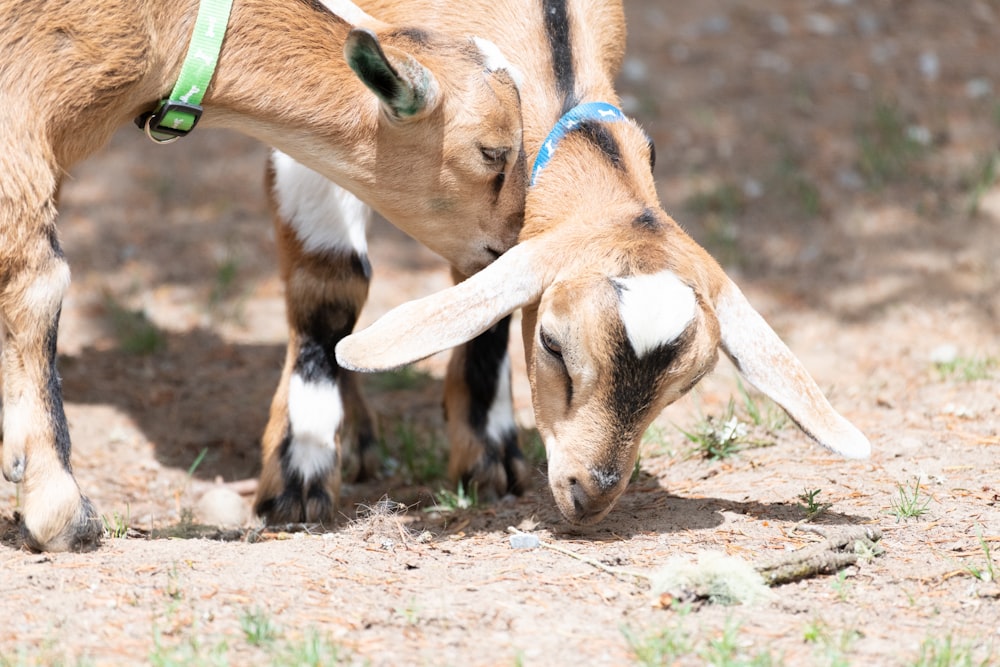
[[[857,135],[858,169],[872,188],[902,180],[926,152],[926,141],[894,102],[879,102]]]

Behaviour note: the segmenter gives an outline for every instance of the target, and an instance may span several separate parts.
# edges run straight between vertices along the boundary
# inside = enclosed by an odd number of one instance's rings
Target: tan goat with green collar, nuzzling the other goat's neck
[[[349,2],[335,9],[340,16],[304,0],[236,0],[203,122],[287,151],[475,272],[516,240],[523,216],[513,78],[482,40],[396,28]],[[69,281],[55,228],[59,181],[163,99],[197,11],[197,0],[0,0],[3,473],[22,484],[22,530],[37,549],[91,548],[102,532],[71,471],[55,368]],[[301,243],[338,233],[313,218]],[[358,284],[367,275],[364,263],[341,274]],[[353,324],[335,308],[310,317],[330,335]],[[303,363],[306,372],[333,365],[332,344]]]

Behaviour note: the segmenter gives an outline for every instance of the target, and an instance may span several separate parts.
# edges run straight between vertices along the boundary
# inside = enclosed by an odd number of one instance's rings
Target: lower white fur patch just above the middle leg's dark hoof
[[[336,463],[337,429],[344,418],[340,389],[332,382],[306,382],[298,374],[288,386],[288,421],[294,437],[292,468],[309,481]]]

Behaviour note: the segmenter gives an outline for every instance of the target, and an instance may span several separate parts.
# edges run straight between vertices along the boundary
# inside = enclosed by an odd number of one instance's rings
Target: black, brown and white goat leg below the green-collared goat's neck
[[[378,466],[374,422],[357,376],[340,368],[334,354],[368,296],[370,213],[280,153],[269,185],[289,342],[264,431],[254,508],[269,524],[332,524],[342,469],[348,480],[361,480]]]

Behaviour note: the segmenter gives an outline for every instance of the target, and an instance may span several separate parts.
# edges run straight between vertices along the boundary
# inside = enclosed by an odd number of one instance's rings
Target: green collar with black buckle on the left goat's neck
[[[180,76],[170,97],[136,117],[135,124],[158,144],[186,136],[201,118],[201,98],[215,74],[233,0],[201,0]]]

